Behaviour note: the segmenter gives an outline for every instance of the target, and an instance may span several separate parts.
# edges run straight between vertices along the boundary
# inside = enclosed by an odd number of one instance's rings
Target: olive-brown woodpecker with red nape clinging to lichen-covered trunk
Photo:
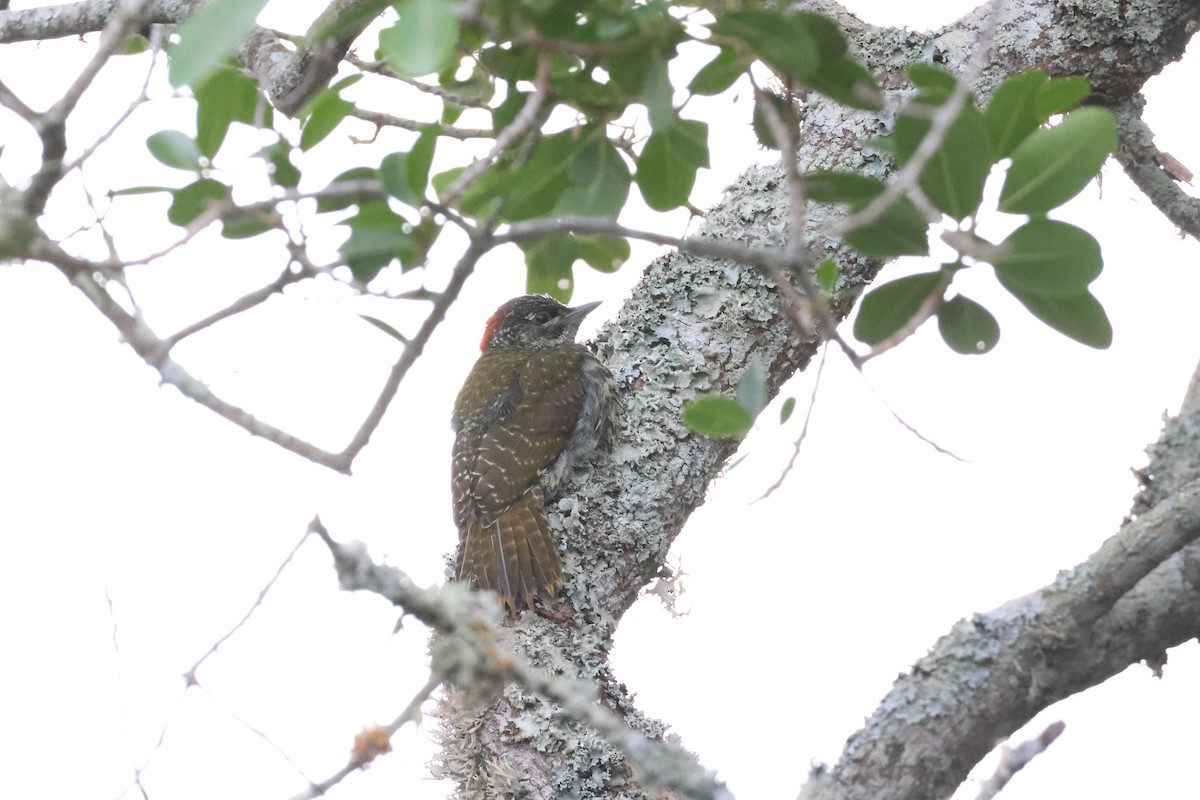
[[[523,295],[500,306],[454,404],[455,578],[496,591],[514,616],[539,590],[553,597],[563,588],[546,499],[612,446],[617,381],[575,342],[599,305]]]

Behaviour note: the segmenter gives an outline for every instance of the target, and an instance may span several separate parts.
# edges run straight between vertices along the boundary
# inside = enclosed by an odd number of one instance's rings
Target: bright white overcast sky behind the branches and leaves
[[[302,28],[280,18],[282,5],[264,22]],[[914,26],[970,7],[944,4],[937,17],[917,19],[896,4],[854,5],[871,20]],[[0,74],[36,104],[89,54],[74,41],[0,48]],[[1200,145],[1186,109],[1200,82],[1195,61],[1168,68],[1146,92],[1159,146],[1193,169]],[[143,70],[136,59],[114,64],[88,101],[97,130],[125,107]],[[748,116],[745,101],[734,113],[691,108],[715,121]],[[148,110],[132,121],[130,144],[92,160],[92,191],[173,178],[140,142],[160,128],[188,130],[192,108],[170,101]],[[13,118],[0,113],[0,174],[13,181],[26,174],[31,143],[10,140],[11,131]],[[722,136],[702,206],[751,160],[768,157],[740,124]],[[310,164],[312,186],[346,163]],[[794,796],[809,760],[835,759],[896,674],[954,621],[1044,585],[1116,530],[1135,491],[1129,468],[1145,462],[1141,449],[1177,408],[1200,355],[1200,277],[1196,245],[1180,240],[1115,166],[1100,194],[1087,190],[1061,216],[1103,245],[1106,270],[1094,290],[1116,330],[1110,350],[1054,333],[1008,302],[990,275],[962,276],[962,289],[1000,318],[997,349],[958,356],[926,326],[872,362],[868,378],[967,461],[916,440],[830,356],[804,453],[782,489],[754,503],[786,462],[811,374],[784,392],[799,401],[792,421],[780,431],[778,404],[763,413],[745,461],[712,487],[677,541],[688,615],[673,619],[647,597],[626,616],[612,656],[618,676],[737,796]],[[161,213],[146,205],[112,221],[142,254],[174,235]],[[80,221],[65,203],[53,215],[62,230]],[[146,216],[155,222],[142,223]],[[631,222],[672,233],[684,224]],[[283,266],[277,245],[204,235],[131,281],[151,324],[169,332],[272,278]],[[608,301],[589,330],[616,313],[655,252],[638,247],[616,276],[577,273],[576,297]],[[898,263],[883,277],[918,269]],[[433,273],[445,270],[443,260]],[[434,276],[433,284],[443,279]],[[313,513],[416,581],[442,579],[455,542],[448,410],[481,320],[522,287],[515,252],[485,261],[347,479],[160,389],[53,269],[0,269],[0,497],[10,540],[0,558],[0,762],[12,796],[115,798],[166,724],[144,777],[151,796],[287,798],[304,788],[293,763],[324,778],[344,763],[355,732],[391,720],[425,681],[424,632],[410,625],[392,636],[385,602],[338,593],[316,541],[200,669],[205,691],[185,693],[180,675],[241,616]],[[294,287],[178,355],[229,399],[340,447],[397,354],[358,319],[364,311],[404,319],[398,303]],[[1193,796],[1198,703],[1194,643],[1171,652],[1164,680],[1130,668],[1031,726],[1062,718],[1067,730],[1004,796]],[[349,778],[340,796],[445,796],[422,766],[433,724],[402,730],[396,752]]]

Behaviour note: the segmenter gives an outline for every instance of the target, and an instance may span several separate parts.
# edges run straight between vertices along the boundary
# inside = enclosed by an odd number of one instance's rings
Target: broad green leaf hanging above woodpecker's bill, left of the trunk
[[[635,180],[647,205],[670,211],[688,201],[700,167],[708,167],[708,125],[677,120],[646,140]]]

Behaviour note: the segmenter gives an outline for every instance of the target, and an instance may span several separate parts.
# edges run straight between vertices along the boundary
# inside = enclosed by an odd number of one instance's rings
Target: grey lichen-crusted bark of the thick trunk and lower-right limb
[[[980,97],[1006,76],[1039,67],[1052,76],[1085,76],[1093,88],[1090,102],[1115,107],[1177,60],[1200,22],[1200,8],[1184,0],[998,4],[928,32],[868,25],[828,1],[805,8],[836,18],[848,31],[857,55],[883,82],[888,108],[907,89],[908,65],[932,59],[961,71],[974,49],[986,46],[985,31],[991,50],[973,83]],[[996,8],[992,20],[990,8]],[[800,170],[886,176],[890,162],[862,146],[886,125],[880,115],[810,97],[796,154]],[[787,218],[784,170],[751,169],[708,212],[701,235],[780,246]],[[834,221],[828,209],[812,205],[800,235],[815,260],[833,258],[841,267],[834,309],[841,317],[880,264],[829,240],[823,231]],[[682,407],[697,392],[731,393],[751,362],[767,367],[774,395],[818,343],[815,335],[794,335],[776,290],[750,267],[677,253],[649,265],[599,337],[599,351],[629,403],[617,449],[566,488],[552,516],[568,542],[575,615],[569,622],[526,615],[514,628],[518,651],[554,672],[595,681],[604,702],[634,729],[660,734],[660,726],[632,709],[606,654],[622,614],[659,575],[671,542],[736,449],[688,433],[679,423]],[[1192,471],[1172,486],[1069,579],[955,625],[809,790],[829,799],[946,796],[998,738],[1040,709],[1141,658],[1160,660],[1166,648],[1196,636],[1200,545],[1189,543],[1200,531],[1200,488],[1190,482],[1196,479],[1200,473]],[[1153,542],[1168,547],[1156,549]],[[1140,553],[1136,566],[1114,548]],[[514,786],[529,787],[524,796],[625,798],[653,789],[640,786],[611,747],[587,734],[580,739],[547,703],[515,687],[482,712],[464,710],[450,692],[443,716],[443,774],[458,781],[464,798]]]

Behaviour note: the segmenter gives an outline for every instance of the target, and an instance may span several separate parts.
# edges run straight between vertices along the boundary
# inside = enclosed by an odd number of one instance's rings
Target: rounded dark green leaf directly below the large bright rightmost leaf
[[[1104,269],[1092,234],[1057,219],[1032,219],[1006,239],[992,259],[996,278],[1013,294],[1072,296]]]

